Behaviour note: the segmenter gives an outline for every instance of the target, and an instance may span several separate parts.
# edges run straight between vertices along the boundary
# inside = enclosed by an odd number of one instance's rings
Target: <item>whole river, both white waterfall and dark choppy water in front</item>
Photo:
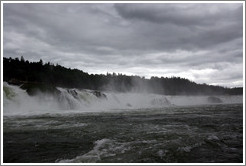
[[[3,84],[4,163],[241,163],[243,96]]]

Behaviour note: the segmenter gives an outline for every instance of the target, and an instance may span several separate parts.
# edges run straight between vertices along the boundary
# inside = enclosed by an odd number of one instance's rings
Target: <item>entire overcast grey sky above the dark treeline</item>
[[[242,3],[5,3],[3,57],[243,86]]]

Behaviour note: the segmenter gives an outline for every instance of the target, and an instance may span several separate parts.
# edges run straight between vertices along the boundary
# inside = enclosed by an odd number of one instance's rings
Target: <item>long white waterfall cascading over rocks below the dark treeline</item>
[[[164,96],[57,88],[58,94],[29,96],[18,86],[3,84],[3,115],[80,113],[115,109],[163,108],[211,104],[208,96]],[[243,96],[217,96],[223,104],[243,103]]]

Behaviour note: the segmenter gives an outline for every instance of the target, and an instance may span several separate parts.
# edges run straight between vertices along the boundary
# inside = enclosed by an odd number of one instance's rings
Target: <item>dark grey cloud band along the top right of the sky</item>
[[[229,7],[229,8],[227,8]],[[144,20],[153,23],[170,23],[178,26],[213,25],[215,20],[238,21],[243,6],[224,4],[115,4],[116,10],[126,19]],[[226,10],[223,10],[226,9]]]

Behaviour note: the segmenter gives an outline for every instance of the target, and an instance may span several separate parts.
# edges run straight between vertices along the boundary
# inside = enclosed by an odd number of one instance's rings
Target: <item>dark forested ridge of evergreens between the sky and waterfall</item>
[[[166,95],[239,95],[243,88],[224,88],[207,84],[197,84],[180,77],[151,77],[123,74],[88,74],[78,69],[70,69],[51,63],[29,62],[20,59],[3,58],[3,80],[9,83],[36,83],[48,86],[117,92],[149,92]]]

